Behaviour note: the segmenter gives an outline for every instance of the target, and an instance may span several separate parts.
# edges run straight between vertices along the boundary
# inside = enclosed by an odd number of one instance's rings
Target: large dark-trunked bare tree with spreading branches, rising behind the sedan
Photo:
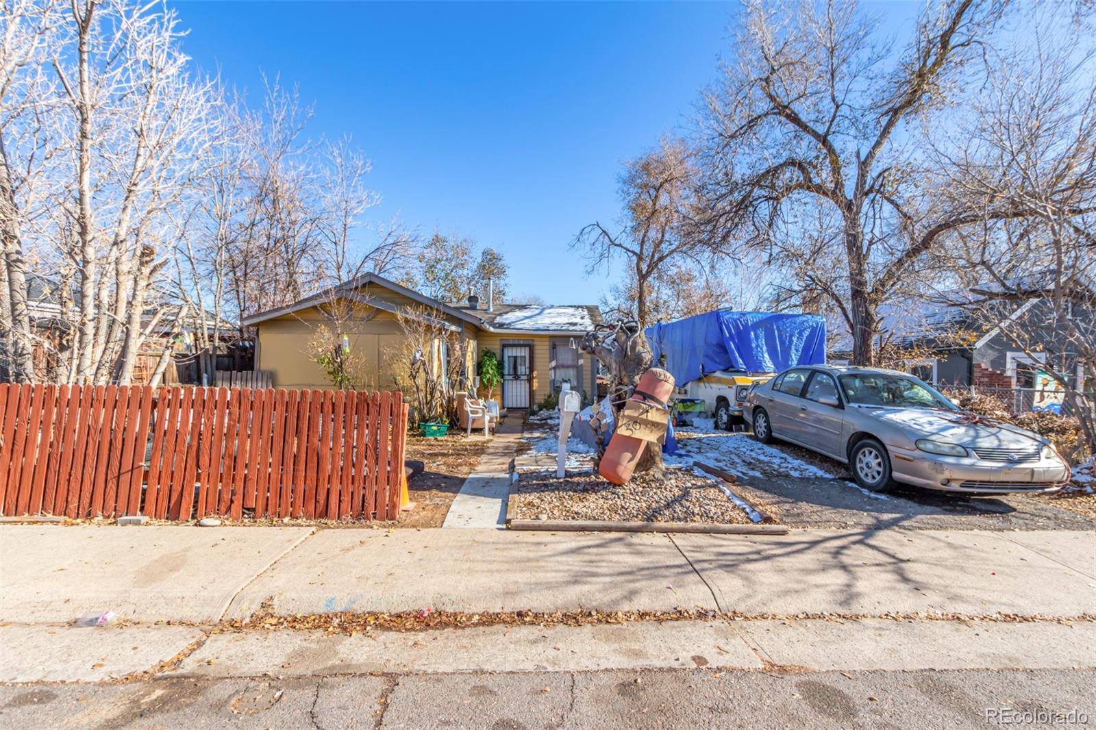
[[[937,119],[960,93],[1000,12],[932,2],[895,57],[853,2],[753,0],[705,94],[712,241],[762,248],[806,276],[847,321],[857,364],[875,362],[879,304],[970,219],[917,209],[924,170],[910,125]],[[833,235],[803,240],[799,224],[820,207]]]

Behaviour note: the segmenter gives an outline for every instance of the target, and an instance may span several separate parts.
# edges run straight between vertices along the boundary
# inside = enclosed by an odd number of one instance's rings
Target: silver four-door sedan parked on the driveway
[[[754,387],[758,441],[780,438],[849,465],[861,487],[899,481],[952,492],[1051,492],[1069,467],[1037,433],[960,411],[893,370],[794,367]]]

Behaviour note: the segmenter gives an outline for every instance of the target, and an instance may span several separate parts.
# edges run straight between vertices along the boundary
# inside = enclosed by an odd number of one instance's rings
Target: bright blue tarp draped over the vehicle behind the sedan
[[[654,362],[683,386],[716,370],[779,373],[825,363],[825,320],[818,315],[709,311],[647,328]]]

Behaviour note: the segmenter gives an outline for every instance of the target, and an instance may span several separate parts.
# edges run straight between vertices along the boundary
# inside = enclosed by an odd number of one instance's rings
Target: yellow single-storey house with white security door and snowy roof
[[[335,324],[333,305],[350,312]],[[537,306],[481,303],[447,305],[377,274],[365,274],[292,305],[242,320],[254,327],[255,368],[270,370],[277,388],[331,388],[312,362],[308,341],[321,324],[338,327],[352,352],[365,361],[364,387],[396,387],[393,353],[404,337],[400,316],[429,315],[438,327],[468,345],[459,380],[475,388],[476,368],[483,350],[492,350],[503,365],[503,408],[526,409],[558,392],[564,380],[592,397],[596,389],[592,357],[579,351],[579,340],[602,321],[596,306]]]

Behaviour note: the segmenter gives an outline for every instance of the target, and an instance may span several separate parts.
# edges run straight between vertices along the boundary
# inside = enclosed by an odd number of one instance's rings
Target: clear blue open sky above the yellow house
[[[687,123],[729,3],[175,3],[187,54],[260,101],[260,71],[351,134],[395,214],[498,247],[511,290],[597,303],[568,250],[618,215],[621,161]]]

